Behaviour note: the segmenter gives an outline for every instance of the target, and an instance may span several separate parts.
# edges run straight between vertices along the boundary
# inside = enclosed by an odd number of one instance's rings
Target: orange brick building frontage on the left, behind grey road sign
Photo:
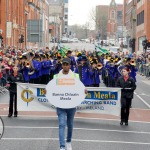
[[[42,20],[42,41],[29,42],[28,20]],[[0,0],[0,31],[5,47],[44,47],[49,44],[49,3],[47,0]],[[20,43],[20,35],[24,42]]]

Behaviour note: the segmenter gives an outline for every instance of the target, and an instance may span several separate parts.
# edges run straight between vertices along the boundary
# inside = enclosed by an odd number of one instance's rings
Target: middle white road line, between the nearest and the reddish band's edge
[[[10,129],[58,129],[58,127],[27,127],[27,126],[5,126]],[[84,131],[105,131],[105,132],[119,132],[119,133],[135,133],[135,134],[150,134],[150,132],[138,132],[138,131],[124,131],[124,130],[108,130],[108,129],[91,129],[91,128],[74,128],[74,130]]]

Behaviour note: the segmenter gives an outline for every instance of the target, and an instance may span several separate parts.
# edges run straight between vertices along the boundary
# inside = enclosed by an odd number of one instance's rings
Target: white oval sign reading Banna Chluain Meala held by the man
[[[58,108],[75,108],[86,97],[84,84],[74,77],[54,78],[47,84],[46,91],[47,99]]]

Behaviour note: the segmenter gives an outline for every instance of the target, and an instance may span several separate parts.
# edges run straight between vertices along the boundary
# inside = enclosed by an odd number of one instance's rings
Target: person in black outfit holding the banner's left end
[[[18,72],[18,67],[13,67],[13,73],[8,76],[7,81],[10,84],[10,101],[9,101],[9,114],[8,117],[11,117],[13,114],[13,103],[14,103],[14,117],[17,117],[17,84],[16,82],[23,82],[23,76]]]

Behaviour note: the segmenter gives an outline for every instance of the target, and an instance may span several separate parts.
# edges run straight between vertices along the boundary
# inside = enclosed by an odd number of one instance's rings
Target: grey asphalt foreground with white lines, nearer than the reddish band
[[[3,117],[5,134],[0,141],[3,150],[58,150],[57,118]],[[75,119],[73,150],[149,150],[150,123]]]

